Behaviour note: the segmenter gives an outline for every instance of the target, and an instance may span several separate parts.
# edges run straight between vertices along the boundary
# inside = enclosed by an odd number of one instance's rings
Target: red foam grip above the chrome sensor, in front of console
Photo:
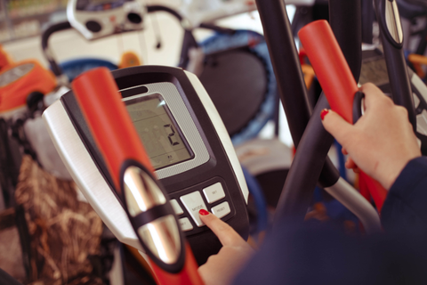
[[[72,87],[117,191],[121,191],[120,167],[126,159],[137,160],[153,172],[109,69],[87,71]]]

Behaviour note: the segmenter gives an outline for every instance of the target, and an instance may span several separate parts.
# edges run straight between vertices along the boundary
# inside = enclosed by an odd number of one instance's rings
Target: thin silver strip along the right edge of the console
[[[238,161],[238,156],[236,155],[236,151],[234,150],[233,143],[231,142],[230,135],[227,132],[227,129],[222,122],[222,118],[216,110],[214,106],[214,102],[212,102],[211,97],[207,94],[205,87],[202,85],[200,80],[198,80],[197,76],[190,73],[189,71],[185,71],[187,77],[189,77],[189,81],[193,85],[194,89],[200,98],[200,101],[205,106],[205,110],[211,118],[212,124],[216,130],[216,133],[220,137],[222,142],[222,146],[224,147],[224,151],[227,153],[227,156],[230,159],[231,167],[233,168],[234,174],[238,179],[238,184],[240,189],[242,190],[243,197],[245,198],[247,204],[247,198],[249,196],[249,191],[247,190],[245,176],[243,175],[242,167],[240,166],[240,162]]]

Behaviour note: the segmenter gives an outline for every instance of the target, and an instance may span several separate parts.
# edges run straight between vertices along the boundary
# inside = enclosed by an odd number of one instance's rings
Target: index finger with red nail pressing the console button
[[[214,214],[209,213],[205,209],[201,209],[198,213],[202,222],[205,223],[221,241],[222,246],[238,246],[242,242],[246,243],[246,241],[238,235],[238,232],[234,231],[229,224],[222,222],[222,220],[214,216]]]

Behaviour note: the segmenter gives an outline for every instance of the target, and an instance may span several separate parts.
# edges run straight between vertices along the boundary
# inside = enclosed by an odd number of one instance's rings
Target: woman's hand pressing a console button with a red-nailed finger
[[[200,219],[216,234],[222,243],[218,254],[210,256],[198,273],[205,285],[230,284],[246,261],[254,254],[254,249],[243,240],[229,224],[222,222],[213,214],[201,209]]]

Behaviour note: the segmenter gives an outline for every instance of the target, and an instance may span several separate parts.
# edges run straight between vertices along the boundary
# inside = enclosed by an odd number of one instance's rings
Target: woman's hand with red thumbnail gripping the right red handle
[[[346,167],[359,167],[390,189],[407,162],[421,156],[421,151],[405,108],[373,84],[363,85],[360,91],[365,94],[365,114],[354,126],[332,110],[324,115],[323,126],[350,154]]]

